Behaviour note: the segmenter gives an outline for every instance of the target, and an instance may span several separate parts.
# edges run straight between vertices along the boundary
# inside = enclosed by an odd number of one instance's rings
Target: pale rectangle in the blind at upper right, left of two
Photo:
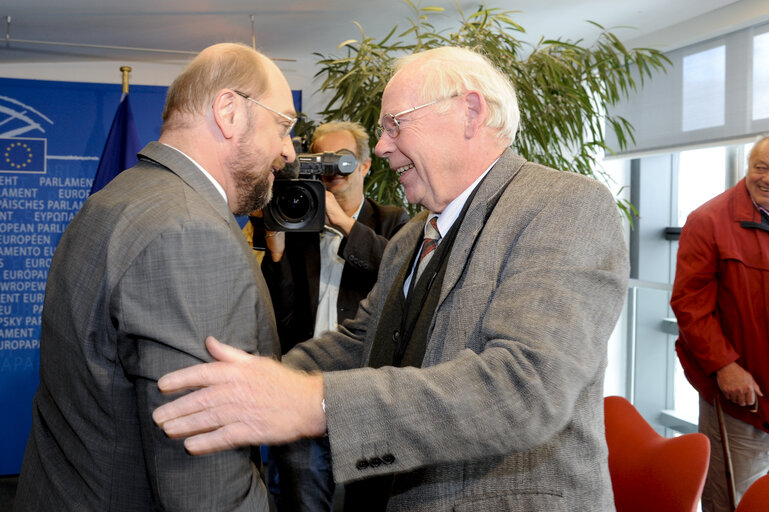
[[[683,58],[683,131],[724,124],[726,47]]]

